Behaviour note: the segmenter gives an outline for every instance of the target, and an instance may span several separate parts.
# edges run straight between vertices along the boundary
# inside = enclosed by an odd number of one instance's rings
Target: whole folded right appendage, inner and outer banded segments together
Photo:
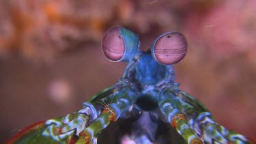
[[[208,109],[184,91],[169,89],[158,102],[167,121],[188,143],[251,143],[242,134],[216,123]]]

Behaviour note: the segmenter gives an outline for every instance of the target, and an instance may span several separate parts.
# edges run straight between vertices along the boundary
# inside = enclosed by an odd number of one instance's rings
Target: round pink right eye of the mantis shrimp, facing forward
[[[152,55],[164,65],[178,63],[184,59],[188,49],[186,38],[179,32],[160,35],[152,46]]]

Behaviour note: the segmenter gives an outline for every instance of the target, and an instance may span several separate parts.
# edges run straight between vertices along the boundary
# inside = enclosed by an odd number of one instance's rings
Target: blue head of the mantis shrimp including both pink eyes
[[[129,62],[124,77],[135,78],[141,85],[156,85],[174,75],[171,65],[182,61],[187,51],[186,38],[177,31],[160,35],[147,52],[139,46],[138,35],[123,27],[109,29],[102,40],[106,58]]]

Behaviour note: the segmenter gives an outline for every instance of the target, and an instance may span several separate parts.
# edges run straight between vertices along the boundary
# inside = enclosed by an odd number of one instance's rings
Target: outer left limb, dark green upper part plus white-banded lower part
[[[49,119],[45,122],[47,127],[42,132],[42,135],[51,137],[55,141],[72,141],[71,138],[74,137],[74,134],[79,135],[81,131],[100,115],[102,104],[99,99],[113,96],[113,91],[113,87],[104,89],[89,100],[89,102],[85,102],[82,109],[70,113],[66,117]]]

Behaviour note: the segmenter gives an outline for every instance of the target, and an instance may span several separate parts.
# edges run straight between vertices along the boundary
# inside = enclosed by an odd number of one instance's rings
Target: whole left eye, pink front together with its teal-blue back
[[[130,61],[138,48],[138,36],[122,27],[109,29],[102,40],[103,53],[111,61]]]

